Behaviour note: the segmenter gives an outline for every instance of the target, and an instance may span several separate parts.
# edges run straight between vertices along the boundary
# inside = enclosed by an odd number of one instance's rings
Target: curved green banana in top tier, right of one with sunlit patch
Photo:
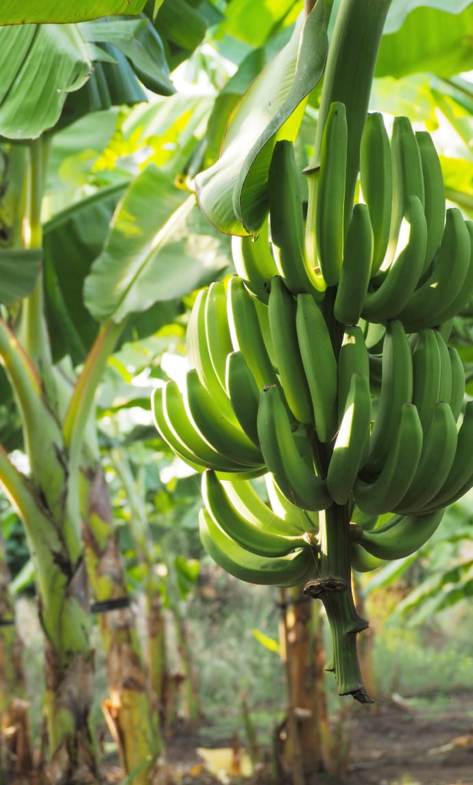
[[[441,316],[446,321],[446,309],[457,297],[468,276],[470,258],[470,232],[460,210],[450,207],[446,211],[442,242],[428,277],[398,313],[398,319],[405,324],[408,332],[435,327]]]

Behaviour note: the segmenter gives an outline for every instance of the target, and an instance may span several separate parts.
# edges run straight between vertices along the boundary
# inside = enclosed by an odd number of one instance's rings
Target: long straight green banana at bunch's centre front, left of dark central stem
[[[329,442],[338,426],[337,360],[326,321],[310,294],[297,295],[296,330],[315,430],[322,443]]]

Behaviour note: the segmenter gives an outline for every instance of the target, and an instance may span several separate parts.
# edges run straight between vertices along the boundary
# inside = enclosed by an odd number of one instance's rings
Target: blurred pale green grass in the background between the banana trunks
[[[244,743],[242,698],[245,697],[258,741],[271,743],[271,733],[281,721],[286,706],[286,686],[278,653],[266,648],[255,637],[260,630],[278,640],[278,590],[248,586],[224,575],[216,568],[204,571],[205,580],[185,605],[190,649],[198,675],[203,710],[202,739],[220,743],[238,734]],[[375,608],[376,612],[376,608]],[[179,670],[173,644],[173,621],[169,629],[169,667]],[[376,616],[373,667],[380,701],[396,692],[413,706],[447,705],[453,692],[473,690],[473,605],[467,601],[450,608],[420,628],[405,623],[392,626]],[[24,667],[31,701],[30,722],[34,739],[39,738],[42,705],[42,636],[35,604],[21,600],[18,624],[24,640]],[[328,639],[328,637],[327,637]],[[100,710],[107,696],[104,655],[97,629],[93,631],[96,648],[95,703],[93,716],[104,728]],[[336,696],[332,674],[327,674],[329,708],[337,712],[345,700]]]

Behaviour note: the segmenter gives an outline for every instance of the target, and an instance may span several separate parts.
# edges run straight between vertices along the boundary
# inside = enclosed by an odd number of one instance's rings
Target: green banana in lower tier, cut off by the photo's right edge
[[[445,483],[428,503],[428,509],[435,510],[456,502],[473,486],[473,400],[465,407],[463,422],[457,438],[457,452],[453,459]]]

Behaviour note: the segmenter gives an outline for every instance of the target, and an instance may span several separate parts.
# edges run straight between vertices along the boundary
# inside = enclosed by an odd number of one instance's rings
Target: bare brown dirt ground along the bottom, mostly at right
[[[416,701],[390,696],[375,707],[350,713],[350,754],[343,776],[319,773],[305,785],[467,785],[473,783],[473,692],[452,694],[440,702],[414,707]],[[198,736],[176,733],[167,757],[180,785],[269,785],[259,776],[212,775],[196,749],[231,747],[231,739],[206,743],[205,727]],[[234,740],[235,743],[235,740]],[[241,754],[239,750],[238,754]],[[282,781],[277,783],[282,785]],[[286,785],[286,783],[284,783]]]

